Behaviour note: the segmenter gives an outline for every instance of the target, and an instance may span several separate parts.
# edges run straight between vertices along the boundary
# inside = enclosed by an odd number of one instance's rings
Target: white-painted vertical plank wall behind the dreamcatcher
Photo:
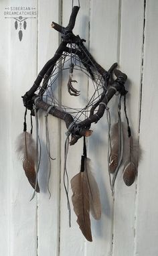
[[[74,0],[74,4],[78,1]],[[49,200],[48,159],[44,117],[40,113],[42,165],[41,193],[29,202],[33,190],[15,154],[15,139],[23,129],[23,95],[33,84],[60,42],[50,24],[68,23],[71,0],[0,1],[0,256],[157,256],[158,255],[158,1],[157,0],[80,0],[75,34],[86,39],[86,46],[106,69],[114,62],[125,72],[128,112],[135,136],[139,137],[142,159],[138,178],[131,187],[120,172],[114,200],[107,171],[106,118],[93,125],[88,139],[88,155],[100,188],[101,220],[92,220],[93,242],[85,241],[72,212],[68,210],[63,186],[66,127],[55,117],[49,119],[52,162]],[[5,19],[7,7],[34,7],[35,19],[27,19],[27,29],[19,41],[15,19]],[[84,83],[82,95],[90,95]],[[79,81],[80,80],[80,81]],[[64,81],[63,81],[64,84]],[[82,106],[80,99],[64,97],[66,86],[58,90],[63,103]],[[68,95],[68,94],[67,94]],[[71,103],[70,103],[71,101]],[[114,100],[110,106],[114,105]],[[112,119],[114,120],[114,113]],[[70,148],[68,172],[79,171],[82,141]],[[70,196],[71,196],[70,190]]]

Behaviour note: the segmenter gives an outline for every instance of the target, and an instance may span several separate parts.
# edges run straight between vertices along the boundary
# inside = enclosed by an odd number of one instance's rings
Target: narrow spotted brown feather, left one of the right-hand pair
[[[110,163],[109,170],[113,174],[118,166],[118,147],[119,147],[119,132],[118,123],[115,123],[111,132],[111,150],[110,150]]]

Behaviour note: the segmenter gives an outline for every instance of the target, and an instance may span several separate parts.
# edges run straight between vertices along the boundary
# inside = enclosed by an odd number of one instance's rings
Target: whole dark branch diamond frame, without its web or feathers
[[[25,93],[23,96],[23,104],[27,109],[33,109],[33,103],[37,107],[37,109],[44,109],[44,111],[48,111],[48,108],[50,108],[50,115],[53,115],[54,117],[58,117],[60,119],[63,119],[66,123],[66,127],[68,129],[68,132],[72,134],[72,140],[70,142],[70,145],[74,145],[76,141],[83,135],[90,135],[92,131],[90,131],[90,125],[91,123],[96,123],[98,120],[104,115],[104,111],[106,109],[106,106],[108,105],[108,101],[113,97],[113,95],[118,91],[120,93],[125,93],[125,81],[127,80],[126,74],[123,74],[119,70],[115,70],[116,80],[112,84],[112,86],[108,86],[108,80],[113,72],[113,70],[116,68],[117,64],[114,63],[108,72],[100,66],[94,60],[92,55],[88,52],[86,47],[83,44],[82,39],[80,39],[79,36],[74,36],[72,33],[72,29],[74,28],[76,16],[78,14],[79,7],[75,6],[72,9],[72,14],[70,15],[70,20],[67,25],[67,27],[62,27],[61,25],[58,25],[57,23],[52,23],[52,26],[54,29],[62,33],[63,42],[60,44],[58,49],[56,50],[56,53],[54,57],[44,65],[44,68],[40,71],[38,74],[33,86],[29,91]],[[67,44],[76,44],[78,46],[78,49],[70,49],[67,47]],[[105,82],[105,88],[103,87],[103,92],[101,94],[100,99],[98,99],[98,102],[92,106],[90,109],[90,115],[88,118],[86,118],[84,121],[81,121],[80,123],[75,123],[74,118],[69,113],[66,113],[65,111],[62,111],[58,107],[50,106],[44,101],[42,101],[42,94],[47,88],[48,80],[50,75],[52,74],[52,71],[54,70],[54,66],[56,62],[60,59],[63,52],[69,52],[72,51],[73,54],[76,54],[78,58],[80,58],[80,61],[82,64],[86,67],[88,73],[94,79],[94,75],[92,73],[93,70],[97,70],[98,73],[102,76]],[[35,95],[35,91],[40,86],[40,83],[42,82],[42,79],[44,78],[44,82],[42,85],[42,88],[40,89],[40,96],[37,98],[37,95]],[[108,86],[108,88],[107,88]],[[98,107],[99,106],[99,107]],[[94,110],[98,107],[98,111],[94,113]]]

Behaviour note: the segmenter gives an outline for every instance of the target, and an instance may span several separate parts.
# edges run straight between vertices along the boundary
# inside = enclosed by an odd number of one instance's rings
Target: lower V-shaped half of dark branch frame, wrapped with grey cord
[[[72,139],[70,141],[70,145],[74,145],[78,139],[82,136],[89,136],[91,135],[92,131],[90,131],[91,123],[97,123],[98,120],[104,115],[104,111],[108,105],[108,101],[112,99],[116,92],[121,94],[125,94],[127,91],[125,90],[125,81],[127,80],[127,75],[123,74],[120,70],[115,70],[115,74],[118,75],[114,83],[108,86],[106,94],[102,97],[102,101],[98,102],[98,106],[93,106],[90,110],[90,115],[84,121],[80,123],[75,123],[74,118],[69,113],[58,109],[58,107],[54,107],[49,105],[48,103],[44,102],[40,97],[35,99],[35,105],[38,109],[43,109],[44,111],[48,111],[51,107],[49,113],[54,117],[58,117],[63,119],[66,123],[66,128],[68,132],[71,133]],[[36,97],[35,97],[36,98]],[[98,111],[94,113],[94,107],[98,107]]]

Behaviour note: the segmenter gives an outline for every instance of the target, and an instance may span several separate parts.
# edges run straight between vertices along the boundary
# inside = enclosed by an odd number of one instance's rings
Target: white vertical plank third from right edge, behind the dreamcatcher
[[[91,1],[90,6],[90,52],[96,61],[108,70],[117,60],[118,1]],[[92,83],[89,85],[89,97]],[[115,97],[108,107],[112,109]],[[113,113],[112,119],[113,119]],[[87,244],[86,255],[111,255],[113,202],[108,176],[108,125],[106,112],[97,124],[92,124],[92,136],[88,139],[88,155],[92,160],[94,176],[100,189],[102,217],[92,218],[92,245]]]

